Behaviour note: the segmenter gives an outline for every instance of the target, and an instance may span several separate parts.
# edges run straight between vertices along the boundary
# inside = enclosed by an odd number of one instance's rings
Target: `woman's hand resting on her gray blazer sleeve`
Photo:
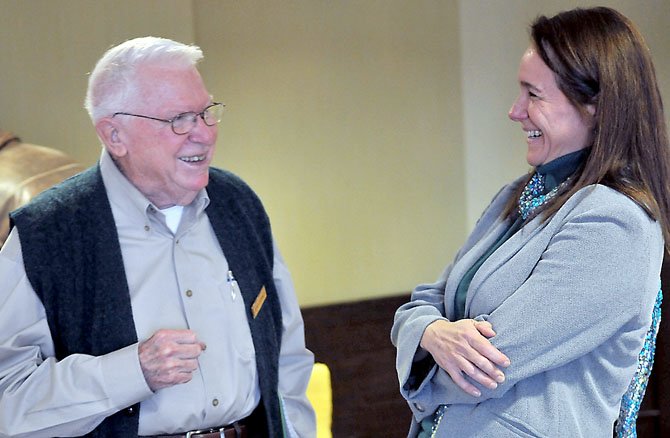
[[[423,332],[421,348],[433,356],[463,391],[479,397],[481,392],[467,381],[464,374],[495,389],[498,383],[505,381],[500,367],[510,364],[509,358],[489,342],[488,338],[493,336],[493,326],[486,321],[437,320]]]

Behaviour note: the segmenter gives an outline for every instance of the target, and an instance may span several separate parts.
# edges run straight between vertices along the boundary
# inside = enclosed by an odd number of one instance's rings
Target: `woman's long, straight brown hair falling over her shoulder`
[[[605,7],[577,8],[531,25],[531,39],[559,89],[580,111],[595,105],[593,144],[571,183],[539,213],[550,218],[575,192],[603,184],[640,205],[670,249],[670,145],[647,44],[635,25]],[[529,177],[530,178],[530,177]],[[521,185],[505,214],[515,216]]]

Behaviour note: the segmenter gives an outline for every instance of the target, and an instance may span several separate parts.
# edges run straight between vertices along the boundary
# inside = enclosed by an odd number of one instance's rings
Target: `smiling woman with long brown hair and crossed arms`
[[[646,385],[638,355],[653,352],[670,246],[670,150],[649,50],[613,9],[540,17],[519,85],[509,117],[533,170],[396,312],[411,436],[604,437],[620,407],[634,428],[639,406],[622,396]]]

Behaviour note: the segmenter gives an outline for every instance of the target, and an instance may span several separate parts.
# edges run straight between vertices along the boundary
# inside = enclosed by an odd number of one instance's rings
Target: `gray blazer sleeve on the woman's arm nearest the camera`
[[[432,412],[436,400],[474,404],[502,397],[517,382],[588,355],[624,331],[640,334],[639,346],[630,349],[635,360],[658,291],[660,226],[604,186],[579,192],[550,222],[531,275],[475,318],[491,322],[497,333],[491,342],[511,360],[505,382],[495,390],[477,385],[482,395],[472,397],[435,366],[418,389],[404,394],[410,406]]]

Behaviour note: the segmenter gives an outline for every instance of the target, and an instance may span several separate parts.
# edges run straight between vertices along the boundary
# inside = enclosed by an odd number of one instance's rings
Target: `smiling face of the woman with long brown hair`
[[[521,58],[519,87],[509,118],[526,133],[528,164],[536,167],[591,144],[595,107],[587,105],[584,113],[570,103],[532,46]]]

